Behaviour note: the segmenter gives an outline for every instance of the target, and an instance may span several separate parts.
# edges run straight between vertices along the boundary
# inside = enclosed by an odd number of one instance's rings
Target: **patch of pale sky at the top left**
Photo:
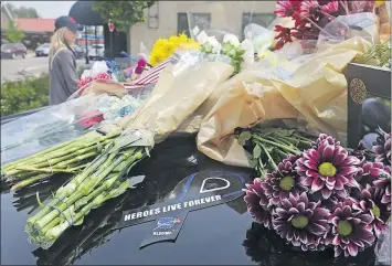
[[[15,7],[34,8],[43,19],[56,19],[61,15],[67,15],[70,9],[76,1],[7,1]]]

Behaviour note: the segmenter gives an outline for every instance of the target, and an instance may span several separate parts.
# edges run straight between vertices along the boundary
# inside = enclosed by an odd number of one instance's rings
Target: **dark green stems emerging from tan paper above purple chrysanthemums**
[[[295,129],[262,128],[240,129],[235,134],[246,150],[250,164],[259,177],[276,171],[277,163],[289,155],[299,155],[311,146],[311,137]]]

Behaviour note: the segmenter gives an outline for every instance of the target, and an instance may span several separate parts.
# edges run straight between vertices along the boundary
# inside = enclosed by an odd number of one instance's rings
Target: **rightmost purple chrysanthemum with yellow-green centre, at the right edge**
[[[390,213],[386,211],[386,204],[381,201],[382,191],[367,184],[361,191],[360,201],[352,205],[353,210],[369,213],[372,216],[373,221],[367,226],[373,230],[377,236],[388,228],[383,219],[386,220],[390,216]]]

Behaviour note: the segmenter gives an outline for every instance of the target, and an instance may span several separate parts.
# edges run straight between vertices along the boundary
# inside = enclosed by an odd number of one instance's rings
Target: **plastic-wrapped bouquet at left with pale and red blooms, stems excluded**
[[[1,163],[77,138],[98,125],[130,115],[141,100],[130,95],[86,95],[50,106],[1,127]]]

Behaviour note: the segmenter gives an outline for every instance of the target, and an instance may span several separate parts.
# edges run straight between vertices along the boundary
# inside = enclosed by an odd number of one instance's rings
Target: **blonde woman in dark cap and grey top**
[[[64,103],[76,91],[78,79],[76,56],[72,50],[76,41],[76,22],[63,15],[55,20],[54,28],[49,51],[50,105]]]

